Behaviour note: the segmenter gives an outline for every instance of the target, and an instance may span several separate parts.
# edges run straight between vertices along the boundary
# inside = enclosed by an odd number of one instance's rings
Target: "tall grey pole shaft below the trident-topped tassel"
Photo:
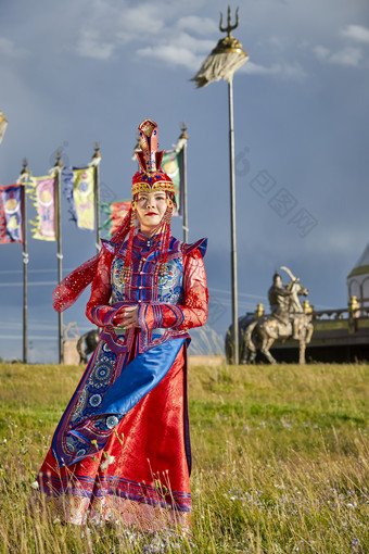
[[[239,294],[237,275],[236,240],[236,187],[234,187],[234,129],[233,129],[233,78],[228,81],[229,100],[229,179],[230,179],[230,219],[231,219],[231,278],[232,278],[232,324],[234,364],[239,364]]]

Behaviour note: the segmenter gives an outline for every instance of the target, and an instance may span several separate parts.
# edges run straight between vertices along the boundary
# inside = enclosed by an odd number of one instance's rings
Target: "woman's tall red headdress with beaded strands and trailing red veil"
[[[145,119],[139,125],[141,151],[136,152],[140,171],[132,178],[132,202],[129,212],[123,219],[120,227],[113,235],[111,242],[123,242],[128,235],[127,252],[125,257],[125,273],[128,277],[131,265],[131,250],[137,222],[136,199],[140,192],[165,190],[167,194],[167,209],[161,224],[161,255],[160,267],[165,270],[170,239],[170,219],[174,206],[175,186],[168,175],[162,169],[164,151],[157,151],[157,125]],[[52,300],[56,312],[69,307],[93,280],[101,252],[82,265],[74,269],[55,288]]]

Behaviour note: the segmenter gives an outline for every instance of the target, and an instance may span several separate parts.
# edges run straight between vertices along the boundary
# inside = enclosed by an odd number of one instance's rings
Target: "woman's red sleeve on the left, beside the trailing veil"
[[[113,257],[113,254],[109,251],[104,251],[101,255],[91,286],[91,297],[86,306],[87,317],[99,327],[110,325],[116,314],[116,309],[109,304],[112,294],[111,268]]]

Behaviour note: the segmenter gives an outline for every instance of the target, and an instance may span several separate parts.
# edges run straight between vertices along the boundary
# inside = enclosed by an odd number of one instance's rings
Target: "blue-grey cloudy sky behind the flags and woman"
[[[138,124],[155,119],[170,149],[184,119],[190,241],[208,237],[220,336],[231,319],[228,90],[189,79],[222,36],[226,10],[218,0],[2,0],[0,17],[0,184],[16,180],[24,156],[47,174],[56,149],[65,165],[85,165],[99,140],[103,194],[127,198]],[[368,2],[245,0],[233,34],[250,55],[233,83],[240,315],[266,304],[281,265],[317,309],[344,307],[369,240]],[[94,237],[62,209],[67,272],[94,253]],[[181,238],[179,218],[173,227]],[[55,244],[29,239],[28,268],[30,361],[54,362]],[[64,315],[81,331],[87,298]],[[22,356],[20,244],[0,245],[0,356]]]

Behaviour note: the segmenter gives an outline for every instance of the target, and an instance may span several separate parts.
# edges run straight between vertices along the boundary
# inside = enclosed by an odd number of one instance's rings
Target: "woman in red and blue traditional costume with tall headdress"
[[[101,332],[38,482],[62,521],[186,529],[188,329],[207,317],[206,239],[186,244],[170,235],[175,188],[161,168],[157,126],[147,119],[139,131],[129,213],[53,294],[63,311],[92,281],[86,315]]]

